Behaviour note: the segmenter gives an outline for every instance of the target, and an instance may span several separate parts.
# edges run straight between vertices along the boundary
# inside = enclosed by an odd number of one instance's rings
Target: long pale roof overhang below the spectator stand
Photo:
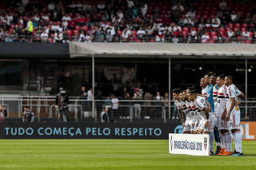
[[[70,42],[70,57],[256,58],[253,44]]]

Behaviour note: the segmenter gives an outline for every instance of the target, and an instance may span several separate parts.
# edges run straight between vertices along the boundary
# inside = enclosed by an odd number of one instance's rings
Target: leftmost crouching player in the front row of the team
[[[183,112],[182,112],[183,103],[182,103],[181,97],[180,97],[181,90],[180,89],[174,89],[172,91],[172,93],[173,93],[174,105],[177,106],[179,117],[182,121],[182,127],[184,128],[185,127],[185,120],[184,120],[184,115],[183,115]]]

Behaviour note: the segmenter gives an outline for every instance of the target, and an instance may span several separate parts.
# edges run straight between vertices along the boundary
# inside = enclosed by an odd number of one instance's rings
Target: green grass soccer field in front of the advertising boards
[[[0,169],[256,169],[256,141],[244,156],[168,153],[168,140],[0,140]]]

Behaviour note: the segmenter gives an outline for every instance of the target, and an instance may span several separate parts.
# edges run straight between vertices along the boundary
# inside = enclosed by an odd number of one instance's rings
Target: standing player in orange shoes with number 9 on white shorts
[[[217,126],[220,134],[220,140],[222,143],[222,149],[218,153],[218,155],[229,156],[232,154],[232,136],[229,130],[227,130],[227,122],[226,122],[226,96],[227,96],[227,88],[224,85],[224,75],[220,75],[217,77],[216,83],[220,87],[218,89],[217,95],[217,106],[216,106],[216,114],[217,114]]]

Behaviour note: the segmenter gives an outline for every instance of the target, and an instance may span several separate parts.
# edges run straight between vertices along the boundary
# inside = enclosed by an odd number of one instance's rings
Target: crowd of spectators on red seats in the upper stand
[[[256,42],[254,0],[0,4],[2,42]]]

